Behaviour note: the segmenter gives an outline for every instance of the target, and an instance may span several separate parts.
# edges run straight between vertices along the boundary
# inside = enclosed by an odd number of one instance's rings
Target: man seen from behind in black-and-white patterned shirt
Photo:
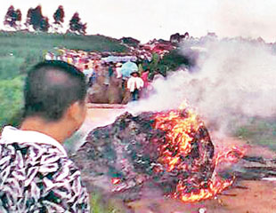
[[[61,144],[85,120],[85,75],[49,60],[28,73],[20,130],[0,139],[0,212],[89,212],[80,172]]]

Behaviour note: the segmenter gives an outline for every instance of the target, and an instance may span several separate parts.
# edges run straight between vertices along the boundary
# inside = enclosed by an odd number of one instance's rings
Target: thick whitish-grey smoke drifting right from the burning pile
[[[172,109],[187,99],[209,128],[223,133],[248,117],[275,114],[276,56],[271,46],[231,39],[209,41],[199,49],[206,51],[199,54],[197,72],[179,70],[154,81],[150,98],[129,105],[129,110]]]

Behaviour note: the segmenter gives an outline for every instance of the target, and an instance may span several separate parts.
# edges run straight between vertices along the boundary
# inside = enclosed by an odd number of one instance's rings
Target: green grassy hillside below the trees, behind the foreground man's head
[[[106,36],[77,36],[0,31],[0,128],[22,106],[23,79],[28,69],[43,60],[45,51],[65,47],[84,51],[127,51]]]

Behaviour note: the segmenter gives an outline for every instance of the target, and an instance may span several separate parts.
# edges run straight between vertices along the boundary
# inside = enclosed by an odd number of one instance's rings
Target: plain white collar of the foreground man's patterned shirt
[[[67,155],[64,147],[61,146],[61,144],[57,140],[38,131],[19,130],[12,126],[5,126],[1,138],[4,139],[5,144],[12,144],[14,142],[23,144],[26,142],[31,142],[37,144],[52,145],[59,149],[62,154]]]

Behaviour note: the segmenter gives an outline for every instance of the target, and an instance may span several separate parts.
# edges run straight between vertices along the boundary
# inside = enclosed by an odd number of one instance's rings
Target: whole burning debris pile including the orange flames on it
[[[126,113],[92,130],[74,160],[89,186],[139,199],[142,187],[154,185],[182,201],[200,201],[221,192],[231,180],[215,176],[218,159],[207,128],[182,107],[137,116]]]

